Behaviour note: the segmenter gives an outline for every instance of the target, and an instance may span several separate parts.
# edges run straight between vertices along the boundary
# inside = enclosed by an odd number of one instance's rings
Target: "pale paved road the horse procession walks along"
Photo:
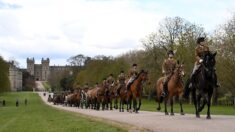
[[[161,112],[140,111],[140,113],[128,113],[113,111],[95,111],[78,109],[64,106],[55,106],[46,102],[47,96],[39,93],[43,101],[59,109],[82,113],[84,115],[108,119],[111,121],[121,122],[125,124],[135,125],[140,128],[146,128],[149,131],[155,132],[235,132],[235,116],[219,116],[212,115],[211,120],[207,120],[206,116],[202,115],[200,119],[195,118],[195,115],[187,114],[181,116],[165,116]]]

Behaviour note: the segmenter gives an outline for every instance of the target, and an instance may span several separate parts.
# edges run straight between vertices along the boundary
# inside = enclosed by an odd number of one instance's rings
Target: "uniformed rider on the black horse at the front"
[[[206,51],[210,51],[209,50],[209,47],[206,46],[205,44],[205,38],[204,37],[199,37],[197,39],[197,47],[195,48],[195,57],[196,57],[196,62],[194,64],[194,68],[193,68],[193,72],[190,76],[190,86],[192,86],[192,82],[194,81],[194,78],[195,78],[195,74],[197,73],[199,67],[201,66],[201,63],[203,62],[203,53],[206,52]],[[216,76],[216,73],[214,72],[215,76],[214,76],[214,79],[215,79],[215,87],[219,87],[219,85],[217,84],[217,76]]]

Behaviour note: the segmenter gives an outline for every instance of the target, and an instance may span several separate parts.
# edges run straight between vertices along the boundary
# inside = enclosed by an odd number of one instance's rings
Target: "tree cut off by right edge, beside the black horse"
[[[218,89],[219,96],[227,93],[235,95],[235,13],[232,18],[221,24],[213,34],[213,50],[217,55],[217,74],[221,88]]]

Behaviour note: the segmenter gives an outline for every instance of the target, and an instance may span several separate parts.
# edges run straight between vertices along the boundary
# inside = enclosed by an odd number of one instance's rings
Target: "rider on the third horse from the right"
[[[129,81],[126,84],[126,91],[128,91],[130,89],[131,84],[133,83],[133,81],[135,80],[135,78],[137,77],[138,74],[138,70],[137,70],[137,64],[133,64],[132,68],[129,71]]]

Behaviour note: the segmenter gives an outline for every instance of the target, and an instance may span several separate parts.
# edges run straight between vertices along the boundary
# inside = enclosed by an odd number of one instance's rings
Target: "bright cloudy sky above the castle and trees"
[[[32,57],[50,65],[77,54],[115,57],[142,49],[166,17],[213,32],[234,12],[234,0],[0,0],[0,56],[21,68]]]

